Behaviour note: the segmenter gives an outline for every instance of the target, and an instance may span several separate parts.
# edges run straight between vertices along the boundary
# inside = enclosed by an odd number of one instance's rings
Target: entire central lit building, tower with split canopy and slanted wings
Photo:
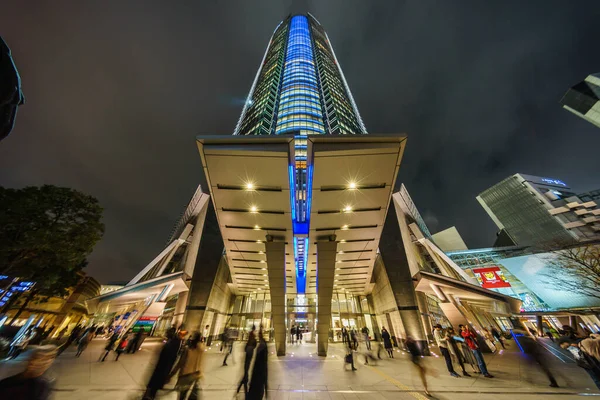
[[[208,325],[214,338],[225,326],[238,339],[261,326],[278,355],[295,326],[320,356],[344,326],[372,337],[385,327],[428,351],[427,299],[455,325],[467,313],[493,321],[481,304],[509,313],[513,300],[443,260],[408,192],[393,193],[405,145],[401,134],[367,134],[321,24],[286,18],[234,134],[197,137],[208,185],[189,216],[97,309],[125,328],[143,315],[158,331]]]

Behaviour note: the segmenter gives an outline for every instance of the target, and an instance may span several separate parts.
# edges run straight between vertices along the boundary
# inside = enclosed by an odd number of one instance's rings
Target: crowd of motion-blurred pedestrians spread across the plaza
[[[512,337],[517,342],[516,344],[520,350],[525,353],[525,358],[530,367],[540,369],[547,376],[550,386],[558,387],[555,377],[548,368],[548,360],[545,359],[547,350],[537,337],[537,332],[534,331],[534,333],[536,334],[515,329],[512,331]],[[552,335],[552,341],[568,351],[600,389],[600,334],[578,333],[567,325],[563,326],[561,330],[557,330],[556,333],[556,335]],[[148,381],[144,400],[156,398],[158,391],[163,389],[175,376],[177,376],[177,379],[174,389],[171,390],[177,392],[179,399],[199,398],[201,390],[199,382],[202,378],[202,362],[209,340],[208,334],[208,326],[204,328],[202,334],[199,331],[188,333],[182,328],[178,330],[171,328],[167,331],[166,340]],[[293,343],[301,343],[302,330],[299,327],[293,326],[291,334]],[[73,343],[77,345],[75,357],[79,357],[86,350],[91,340],[99,335],[107,337],[105,351],[98,360],[100,362],[105,361],[113,351],[116,354],[115,360],[118,360],[122,353],[135,353],[143,341],[141,331],[132,332],[129,330],[122,333],[118,329],[76,326],[62,346],[38,346],[37,344],[40,343],[39,340],[43,336],[36,332],[34,328],[27,329],[14,340],[10,353],[10,357],[16,357],[30,345],[30,351],[28,352],[30,355],[25,372],[0,381],[0,390],[3,393],[4,390],[6,390],[6,393],[29,393],[34,391],[35,393],[31,394],[31,398],[46,398],[44,395],[49,393],[50,386],[42,378],[42,374],[52,360]],[[357,354],[363,354],[365,364],[368,365],[370,360],[377,362],[377,360],[382,359],[381,355],[385,354],[382,350],[385,350],[388,358],[391,359],[394,358],[394,347],[403,348],[408,353],[409,359],[421,379],[425,394],[429,395],[427,375],[433,372],[429,371],[423,362],[423,356],[428,351],[426,341],[415,340],[413,337],[408,336],[403,340],[403,343],[398,343],[385,327],[381,328],[380,335],[375,335],[373,338],[366,326],[361,328],[360,331],[355,327],[342,327],[341,335],[342,343],[347,350],[344,362],[345,365],[351,367],[352,371],[357,370],[355,368]],[[439,324],[434,326],[432,336],[439,348],[441,357],[445,361],[448,373],[457,378],[461,376],[472,377],[471,374],[493,378],[488,370],[482,349],[487,348],[492,351],[496,351],[500,347],[505,349],[509,346],[505,341],[510,338],[510,336],[505,336],[503,332],[495,327],[480,328],[478,331],[474,331],[470,326],[459,325],[458,330],[455,331],[451,326],[442,327]],[[225,328],[221,337],[220,349],[224,353],[223,366],[228,365],[227,360],[232,355],[236,337],[235,331],[228,327]],[[242,376],[237,387],[237,393],[243,389],[246,399],[262,399],[268,388],[268,350],[262,326],[258,332],[255,326],[248,332],[247,340],[244,343],[243,359]],[[467,366],[470,366],[472,371],[467,371]],[[459,374],[457,371],[461,373]]]

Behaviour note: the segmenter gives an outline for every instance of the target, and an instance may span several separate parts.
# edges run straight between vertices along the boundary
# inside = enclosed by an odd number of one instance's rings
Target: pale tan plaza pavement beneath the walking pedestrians
[[[80,358],[75,357],[75,346],[67,349],[54,363],[48,374],[56,379],[56,400],[120,400],[140,399],[152,371],[161,341],[148,340],[136,354],[123,354],[114,361],[111,353],[107,361],[98,362],[105,344],[94,339]],[[223,354],[218,346],[207,350],[202,381],[203,399],[235,398],[235,388],[242,374],[243,344],[236,343],[229,366],[222,366]],[[357,371],[344,366],[344,348],[330,345],[327,358],[315,355],[315,344],[289,345],[288,355],[276,357],[270,345],[269,398],[296,399],[426,399],[419,377],[408,356],[401,351],[377,365],[365,366],[364,357],[355,362]],[[432,351],[437,352],[433,347]],[[19,372],[23,357],[0,363],[0,378]],[[429,390],[437,399],[575,399],[599,396],[592,380],[576,364],[550,356],[548,363],[555,372],[558,389],[550,388],[545,376],[531,368],[514,342],[499,354],[485,355],[493,379],[472,374],[472,378],[451,377],[441,357],[425,357],[430,369]],[[567,361],[567,362],[565,362]],[[470,367],[467,367],[467,372]],[[172,388],[173,383],[166,387]],[[165,390],[158,399],[176,399],[176,394]],[[243,396],[239,395],[240,399]]]

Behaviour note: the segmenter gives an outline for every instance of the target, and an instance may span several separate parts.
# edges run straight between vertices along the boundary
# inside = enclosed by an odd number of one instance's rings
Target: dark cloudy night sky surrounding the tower
[[[12,3],[12,4],[11,4]],[[594,1],[314,1],[370,133],[406,133],[399,179],[432,232],[469,247],[495,225],[475,196],[523,172],[600,188],[600,129],[563,110],[600,72]],[[194,137],[230,135],[289,1],[4,1],[26,104],[0,185],[96,196],[101,282],[163,248],[203,180]]]

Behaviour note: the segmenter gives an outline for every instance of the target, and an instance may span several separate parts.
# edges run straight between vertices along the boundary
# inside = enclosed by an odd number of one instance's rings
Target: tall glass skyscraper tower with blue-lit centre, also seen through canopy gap
[[[234,135],[293,134],[290,167],[298,293],[306,289],[312,169],[307,135],[366,134],[327,33],[312,15],[294,15],[275,29]]]

